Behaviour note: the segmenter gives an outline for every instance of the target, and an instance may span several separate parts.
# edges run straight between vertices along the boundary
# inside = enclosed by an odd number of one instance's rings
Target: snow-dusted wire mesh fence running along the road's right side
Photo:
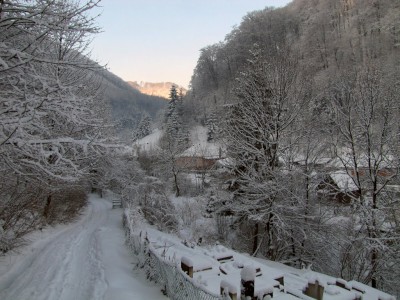
[[[229,296],[214,295],[196,285],[191,278],[184,273],[179,262],[174,258],[167,259],[159,254],[149,243],[146,234],[133,230],[135,220],[125,212],[124,227],[126,243],[138,259],[137,266],[146,274],[147,279],[156,282],[162,287],[162,291],[174,300],[228,300]]]

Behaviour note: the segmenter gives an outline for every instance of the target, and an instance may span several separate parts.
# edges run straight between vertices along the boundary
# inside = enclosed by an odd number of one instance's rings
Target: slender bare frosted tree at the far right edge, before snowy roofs
[[[341,276],[392,291],[400,276],[399,201],[390,189],[400,167],[395,78],[370,64],[342,76],[327,94],[337,159],[357,188]]]

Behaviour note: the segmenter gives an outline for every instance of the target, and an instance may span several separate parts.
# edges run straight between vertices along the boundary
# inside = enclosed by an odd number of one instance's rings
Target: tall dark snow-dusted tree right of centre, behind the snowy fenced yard
[[[224,128],[237,189],[231,210],[253,226],[255,254],[282,258],[291,197],[288,174],[279,168],[303,99],[296,60],[283,54],[268,60],[255,46],[248,68],[237,81],[238,102],[228,107]]]

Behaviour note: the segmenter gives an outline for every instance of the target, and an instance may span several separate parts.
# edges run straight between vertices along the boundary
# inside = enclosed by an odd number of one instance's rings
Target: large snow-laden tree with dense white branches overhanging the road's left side
[[[85,56],[98,2],[0,2],[2,194],[16,191],[7,186],[46,191],[44,217],[53,192],[81,182],[106,148],[101,67]]]

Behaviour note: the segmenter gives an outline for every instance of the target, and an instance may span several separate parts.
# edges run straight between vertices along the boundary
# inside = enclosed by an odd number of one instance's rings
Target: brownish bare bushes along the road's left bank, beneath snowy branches
[[[85,184],[30,184],[3,176],[0,184],[0,251],[24,243],[24,236],[48,224],[71,221],[86,204]]]

